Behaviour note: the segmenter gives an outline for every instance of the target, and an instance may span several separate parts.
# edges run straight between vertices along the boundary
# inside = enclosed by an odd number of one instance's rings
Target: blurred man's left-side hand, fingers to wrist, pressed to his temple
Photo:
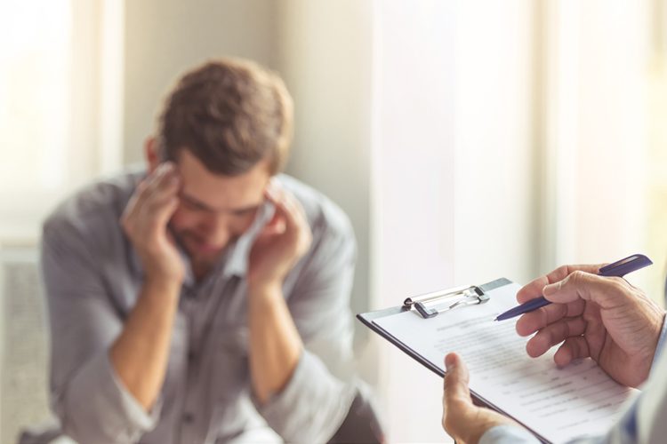
[[[173,163],[163,163],[137,186],[121,217],[148,280],[180,283],[185,274],[181,255],[167,230],[178,206],[178,189]]]

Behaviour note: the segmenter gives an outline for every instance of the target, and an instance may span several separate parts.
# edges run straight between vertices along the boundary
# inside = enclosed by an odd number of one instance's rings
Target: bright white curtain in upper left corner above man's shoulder
[[[123,2],[21,0],[0,8],[0,241],[120,159]]]

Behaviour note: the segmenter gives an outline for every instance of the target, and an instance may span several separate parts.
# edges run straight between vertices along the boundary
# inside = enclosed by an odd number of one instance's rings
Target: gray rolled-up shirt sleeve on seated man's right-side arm
[[[335,224],[314,227],[317,242],[287,300],[304,351],[285,388],[258,406],[288,442],[329,440],[356,394],[349,304],[357,250],[347,218],[333,217]]]

